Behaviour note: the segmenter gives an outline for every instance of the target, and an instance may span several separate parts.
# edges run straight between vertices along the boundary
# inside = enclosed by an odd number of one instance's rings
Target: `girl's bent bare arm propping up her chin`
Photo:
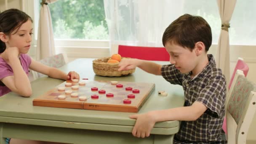
[[[11,68],[13,69],[13,76],[4,77],[1,81],[21,96],[29,97],[32,95],[32,88],[30,85],[29,78],[26,72],[21,66],[19,58],[17,56],[9,57]]]

